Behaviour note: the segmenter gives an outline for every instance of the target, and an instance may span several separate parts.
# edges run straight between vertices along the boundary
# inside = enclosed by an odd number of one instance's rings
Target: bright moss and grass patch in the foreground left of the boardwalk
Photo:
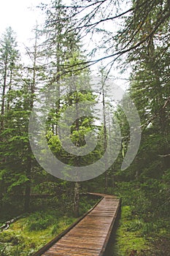
[[[0,255],[32,255],[75,220],[67,216],[56,217],[55,211],[44,212],[44,219],[42,212],[19,219],[0,233]]]

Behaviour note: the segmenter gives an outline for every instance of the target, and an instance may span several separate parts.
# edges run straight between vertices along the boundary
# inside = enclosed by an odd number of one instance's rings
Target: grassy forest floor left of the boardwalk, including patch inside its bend
[[[97,201],[82,197],[80,215],[85,214]],[[58,203],[56,205],[54,203],[54,199],[50,200],[47,206],[46,201],[41,210],[24,214],[23,217],[12,223],[9,229],[1,232],[0,256],[33,255],[39,248],[77,220],[73,217],[71,208],[64,211],[58,206]]]

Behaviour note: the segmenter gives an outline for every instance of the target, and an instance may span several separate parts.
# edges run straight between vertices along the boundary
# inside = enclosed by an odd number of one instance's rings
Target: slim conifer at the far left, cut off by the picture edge
[[[11,130],[7,115],[11,105],[14,104],[14,91],[16,89],[16,80],[19,79],[18,74],[18,59],[20,54],[17,48],[17,42],[15,32],[12,31],[11,27],[7,28],[4,34],[2,34],[0,41],[0,93],[1,93],[1,113],[0,113],[0,142],[1,142],[1,182],[4,181],[5,170],[3,165],[7,162],[7,154],[5,154],[4,146],[7,146],[8,131]],[[1,186],[0,199],[3,199],[4,186]]]

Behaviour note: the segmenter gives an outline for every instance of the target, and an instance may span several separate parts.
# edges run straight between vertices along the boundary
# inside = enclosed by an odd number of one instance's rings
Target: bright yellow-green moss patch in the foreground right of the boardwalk
[[[168,256],[169,222],[144,222],[133,215],[131,206],[122,206],[112,256]]]

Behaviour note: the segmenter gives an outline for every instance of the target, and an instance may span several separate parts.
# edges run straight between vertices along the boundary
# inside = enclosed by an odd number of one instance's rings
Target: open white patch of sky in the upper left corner
[[[36,25],[36,20],[42,20],[42,13],[36,8],[41,2],[49,3],[50,0],[1,0],[0,4],[0,34],[8,26],[17,34],[19,44],[26,44],[31,37],[31,30]]]

